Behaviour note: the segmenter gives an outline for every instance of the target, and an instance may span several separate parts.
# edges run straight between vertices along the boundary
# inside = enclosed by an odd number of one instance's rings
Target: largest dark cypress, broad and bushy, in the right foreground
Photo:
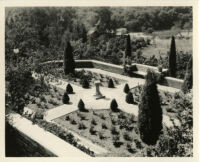
[[[162,130],[162,109],[155,73],[148,70],[139,104],[138,129],[141,140],[155,145]]]

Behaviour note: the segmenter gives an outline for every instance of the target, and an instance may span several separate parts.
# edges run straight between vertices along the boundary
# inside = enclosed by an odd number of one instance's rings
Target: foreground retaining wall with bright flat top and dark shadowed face
[[[9,114],[6,121],[8,157],[90,157],[19,114]]]

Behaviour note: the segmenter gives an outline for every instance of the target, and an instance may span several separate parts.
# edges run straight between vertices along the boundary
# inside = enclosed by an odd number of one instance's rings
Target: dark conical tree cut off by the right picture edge
[[[193,69],[192,69],[192,56],[187,64],[185,79],[182,85],[182,91],[187,93],[193,86]]]

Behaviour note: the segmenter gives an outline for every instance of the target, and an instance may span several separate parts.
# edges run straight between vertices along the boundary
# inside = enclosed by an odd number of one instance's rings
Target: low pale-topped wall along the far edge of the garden
[[[50,64],[50,65],[49,65]],[[62,60],[58,60],[58,61],[48,61],[45,63],[42,63],[41,66],[48,66],[50,68],[61,68],[63,65],[63,61]],[[153,66],[148,66],[148,65],[142,65],[142,64],[132,64],[132,73],[134,76],[137,76],[139,78],[144,78],[144,76],[146,75],[146,71],[147,69],[151,69],[153,71],[155,71],[158,75],[160,75],[161,73],[158,71],[158,68],[153,67]],[[122,75],[124,73],[124,69],[122,66],[120,65],[114,65],[114,64],[110,64],[110,63],[105,63],[105,62],[101,62],[101,61],[96,61],[96,60],[76,60],[76,68],[84,68],[84,69],[101,69],[104,71],[108,71],[111,73],[115,73],[115,74],[120,74]],[[48,70],[48,68],[46,68]],[[167,74],[167,69],[163,69],[162,70],[162,74],[164,74],[164,76]],[[58,74],[56,74],[58,76]],[[164,85],[164,86],[169,86],[172,88],[176,88],[176,89],[181,89],[181,86],[183,84],[183,80],[181,79],[176,79],[176,78],[172,78],[172,77],[164,77],[161,81],[159,81],[160,85]]]

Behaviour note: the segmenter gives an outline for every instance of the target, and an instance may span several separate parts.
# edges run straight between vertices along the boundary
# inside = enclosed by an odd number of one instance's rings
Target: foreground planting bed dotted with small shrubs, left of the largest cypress
[[[82,116],[85,117],[84,120]],[[72,121],[77,124],[71,124]],[[144,144],[140,141],[136,121],[134,115],[125,112],[113,113],[110,110],[77,110],[54,120],[110,151],[103,156],[139,156]],[[135,141],[140,144],[140,148],[133,148]]]

